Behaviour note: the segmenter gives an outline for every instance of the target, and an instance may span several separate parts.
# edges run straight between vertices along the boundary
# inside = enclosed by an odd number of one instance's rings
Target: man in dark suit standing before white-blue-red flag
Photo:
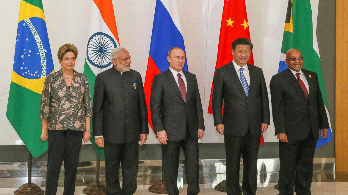
[[[197,195],[198,139],[203,137],[204,120],[196,75],[183,71],[185,53],[168,51],[168,70],[153,77],[151,118],[153,131],[162,144],[162,166],[168,194],[179,194],[176,186],[180,146],[185,153],[187,194]]]

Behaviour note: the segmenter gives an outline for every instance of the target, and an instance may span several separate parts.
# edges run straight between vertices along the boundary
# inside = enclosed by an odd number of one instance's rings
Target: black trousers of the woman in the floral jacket
[[[46,195],[56,195],[59,173],[64,161],[64,192],[73,195],[77,164],[84,132],[73,130],[48,130]]]

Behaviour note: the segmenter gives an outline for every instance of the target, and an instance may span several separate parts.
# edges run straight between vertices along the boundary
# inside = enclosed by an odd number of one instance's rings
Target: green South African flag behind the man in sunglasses
[[[317,148],[332,140],[331,121],[327,111],[326,91],[323,79],[323,71],[320,63],[319,48],[317,42],[317,18],[318,0],[289,0],[285,18],[282,52],[278,72],[287,68],[285,64],[286,51],[295,48],[301,51],[304,58],[303,68],[314,71],[318,75],[320,90],[322,91],[327,119],[330,129],[326,138],[320,138]]]

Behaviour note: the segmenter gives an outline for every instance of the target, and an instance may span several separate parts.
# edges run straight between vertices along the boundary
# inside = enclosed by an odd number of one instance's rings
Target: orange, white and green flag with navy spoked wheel
[[[93,101],[94,82],[98,73],[110,68],[111,51],[119,47],[116,20],[112,0],[94,0],[90,17],[89,38],[85,59],[84,74],[87,75],[91,99]],[[93,122],[93,121],[92,121]],[[91,124],[91,135],[92,134]],[[91,136],[90,141],[100,159],[104,159],[104,149],[98,147]]]

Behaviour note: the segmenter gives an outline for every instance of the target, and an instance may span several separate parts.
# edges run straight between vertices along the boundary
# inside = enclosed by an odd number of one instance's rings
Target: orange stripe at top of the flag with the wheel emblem
[[[112,0],[94,0],[94,3],[98,7],[106,26],[109,27],[113,36],[117,40],[118,45],[120,45],[116,27],[115,14],[113,12]]]

